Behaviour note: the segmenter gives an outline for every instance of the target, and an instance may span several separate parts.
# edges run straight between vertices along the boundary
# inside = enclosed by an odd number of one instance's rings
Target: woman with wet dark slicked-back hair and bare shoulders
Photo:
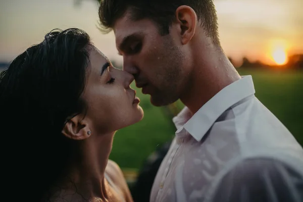
[[[53,30],[19,55],[0,76],[11,197],[132,201],[109,160],[115,132],[143,117],[132,81],[76,28]]]

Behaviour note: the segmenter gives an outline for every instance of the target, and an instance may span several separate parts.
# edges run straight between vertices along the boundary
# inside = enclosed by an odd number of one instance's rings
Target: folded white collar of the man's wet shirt
[[[223,112],[255,92],[252,77],[242,76],[241,79],[219,91],[192,117],[189,109],[185,107],[173,118],[177,128],[176,135],[181,135],[181,131],[185,129],[195,140],[200,141]]]

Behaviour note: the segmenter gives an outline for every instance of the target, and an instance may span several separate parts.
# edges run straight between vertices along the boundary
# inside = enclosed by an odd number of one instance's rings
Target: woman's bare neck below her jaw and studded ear
[[[93,201],[92,198],[107,201],[108,184],[104,179],[104,172],[112,150],[113,136],[114,132],[106,135],[94,134],[82,142],[77,162],[72,164],[67,179],[59,183],[63,189],[60,197],[72,199],[68,201],[81,197],[83,201]]]

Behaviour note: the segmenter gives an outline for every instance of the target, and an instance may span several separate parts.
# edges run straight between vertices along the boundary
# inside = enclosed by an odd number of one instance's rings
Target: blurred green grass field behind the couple
[[[240,75],[252,75],[256,96],[303,145],[303,72],[241,68],[238,71]],[[123,169],[139,169],[147,156],[157,146],[173,138],[175,132],[174,125],[165,116],[163,108],[151,106],[149,95],[141,94],[141,90],[137,90],[137,93],[141,99],[144,118],[116,133],[110,156]]]

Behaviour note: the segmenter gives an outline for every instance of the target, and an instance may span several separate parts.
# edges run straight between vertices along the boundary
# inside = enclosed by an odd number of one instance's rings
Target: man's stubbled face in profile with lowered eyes
[[[150,94],[150,102],[164,106],[179,99],[189,73],[181,44],[173,34],[162,36],[153,21],[132,21],[128,13],[116,21],[114,32],[123,69],[134,75],[144,94]]]

